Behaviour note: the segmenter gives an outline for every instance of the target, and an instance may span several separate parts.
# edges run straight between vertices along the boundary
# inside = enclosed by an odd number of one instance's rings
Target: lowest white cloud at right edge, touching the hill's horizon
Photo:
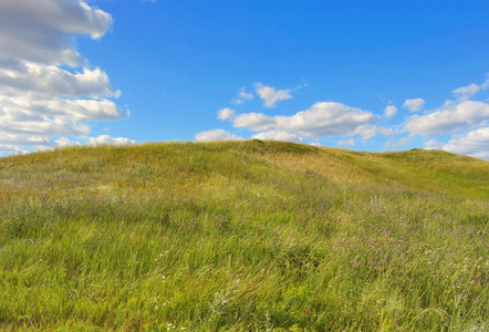
[[[454,138],[443,148],[455,154],[470,155],[489,160],[489,127],[479,128],[466,136]]]

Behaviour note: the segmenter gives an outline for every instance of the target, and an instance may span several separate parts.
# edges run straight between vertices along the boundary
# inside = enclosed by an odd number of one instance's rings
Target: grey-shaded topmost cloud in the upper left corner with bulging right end
[[[100,39],[112,23],[108,13],[81,0],[2,0],[0,59],[80,65],[72,35]]]

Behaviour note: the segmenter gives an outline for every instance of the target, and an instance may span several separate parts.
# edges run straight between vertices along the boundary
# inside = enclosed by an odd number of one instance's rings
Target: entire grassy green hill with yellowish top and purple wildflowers
[[[486,331],[489,163],[246,141],[0,159],[0,329]]]

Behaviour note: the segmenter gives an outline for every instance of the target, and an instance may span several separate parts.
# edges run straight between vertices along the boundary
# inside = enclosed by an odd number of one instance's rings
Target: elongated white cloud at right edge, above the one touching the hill
[[[440,135],[483,126],[488,120],[489,104],[467,101],[446,103],[439,111],[427,115],[413,115],[404,128],[422,136]]]

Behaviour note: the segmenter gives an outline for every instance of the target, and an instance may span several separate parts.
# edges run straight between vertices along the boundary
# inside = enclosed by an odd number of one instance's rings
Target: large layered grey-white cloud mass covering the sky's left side
[[[112,23],[82,0],[0,1],[0,152],[60,146],[52,136],[90,133],[82,121],[128,116],[111,101],[121,92],[74,43],[102,38]]]

